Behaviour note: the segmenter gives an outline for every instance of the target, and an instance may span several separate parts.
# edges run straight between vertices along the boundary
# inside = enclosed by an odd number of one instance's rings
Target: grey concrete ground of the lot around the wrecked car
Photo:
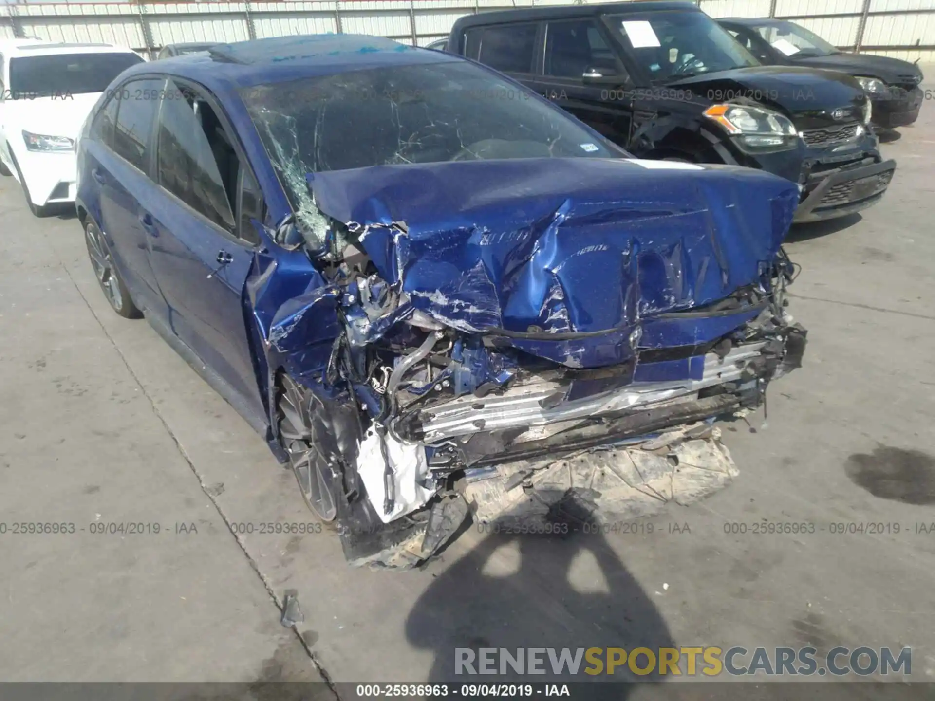
[[[0,521],[79,529],[0,536],[0,679],[453,680],[455,647],[809,643],[912,646],[913,678],[935,679],[935,534],[914,533],[935,522],[933,145],[926,105],[883,146],[899,169],[881,205],[793,231],[805,366],[772,386],[768,425],[725,427],[741,469],[725,491],[653,535],[469,530],[403,574],[349,568],[334,536],[232,536],[225,522],[310,521],[291,474],[146,322],[110,310],[78,222],[34,219],[0,179]],[[760,520],[816,530],[725,533]],[[279,622],[287,590],[301,639]]]

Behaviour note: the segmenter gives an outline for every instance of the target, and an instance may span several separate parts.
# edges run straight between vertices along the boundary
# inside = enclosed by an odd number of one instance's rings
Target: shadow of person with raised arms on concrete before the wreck
[[[471,526],[476,528],[477,526]],[[574,654],[583,648],[675,647],[669,628],[650,595],[626,570],[603,535],[582,529],[567,536],[484,536],[480,544],[440,573],[410,610],[406,636],[410,644],[432,651],[434,662],[428,681],[525,683],[552,681],[607,681],[604,674],[584,673],[582,657],[577,675],[554,676],[547,651],[541,654],[544,675],[520,676],[505,667],[496,676],[466,674],[456,664],[457,648],[475,653],[475,669],[481,648],[562,648]],[[662,585],[660,584],[660,587]],[[606,658],[601,655],[601,658]],[[639,658],[640,667],[647,665]],[[592,666],[593,668],[593,666]],[[603,670],[602,670],[603,671]],[[458,672],[461,672],[460,674]],[[615,670],[613,680],[654,680],[655,674],[637,677],[626,665]],[[623,699],[628,686],[595,684],[588,698]]]

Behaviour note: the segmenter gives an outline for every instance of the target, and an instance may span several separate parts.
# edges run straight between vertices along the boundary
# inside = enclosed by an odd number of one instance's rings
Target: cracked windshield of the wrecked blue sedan
[[[625,155],[525,89],[468,63],[396,65],[242,92],[307,229],[306,174],[370,165]]]

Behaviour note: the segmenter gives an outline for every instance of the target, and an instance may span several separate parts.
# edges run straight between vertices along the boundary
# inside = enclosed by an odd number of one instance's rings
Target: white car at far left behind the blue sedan
[[[0,174],[37,217],[75,201],[75,143],[97,98],[143,59],[108,44],[0,41]]]

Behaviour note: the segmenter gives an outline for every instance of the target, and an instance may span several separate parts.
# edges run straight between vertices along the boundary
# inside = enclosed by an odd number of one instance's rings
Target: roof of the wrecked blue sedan
[[[417,49],[381,36],[275,36],[217,44],[207,52],[137,64],[122,73],[159,73],[194,80],[222,94],[253,85],[335,75],[388,65],[464,61],[451,54]]]

